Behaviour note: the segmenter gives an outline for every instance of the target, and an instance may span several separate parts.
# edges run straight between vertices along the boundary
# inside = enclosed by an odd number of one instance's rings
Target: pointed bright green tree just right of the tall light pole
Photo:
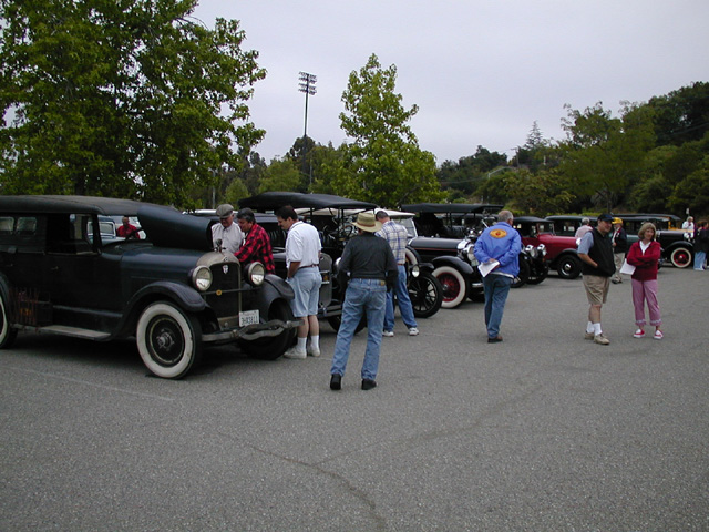
[[[340,121],[352,142],[332,176],[337,194],[389,207],[444,197],[433,154],[419,147],[408,125],[418,106],[403,108],[395,82],[397,68],[382,69],[374,54],[350,73]]]

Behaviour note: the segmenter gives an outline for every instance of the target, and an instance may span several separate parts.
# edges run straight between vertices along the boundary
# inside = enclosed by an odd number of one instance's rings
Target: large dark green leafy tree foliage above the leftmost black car
[[[1,192],[182,205],[264,135],[238,21],[197,0],[0,0]]]

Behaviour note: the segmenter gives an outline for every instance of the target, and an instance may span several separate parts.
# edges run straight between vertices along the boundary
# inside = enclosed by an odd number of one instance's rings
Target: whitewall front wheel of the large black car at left
[[[153,303],[143,310],[135,340],[143,364],[165,379],[184,377],[202,358],[199,321],[171,303]]]

